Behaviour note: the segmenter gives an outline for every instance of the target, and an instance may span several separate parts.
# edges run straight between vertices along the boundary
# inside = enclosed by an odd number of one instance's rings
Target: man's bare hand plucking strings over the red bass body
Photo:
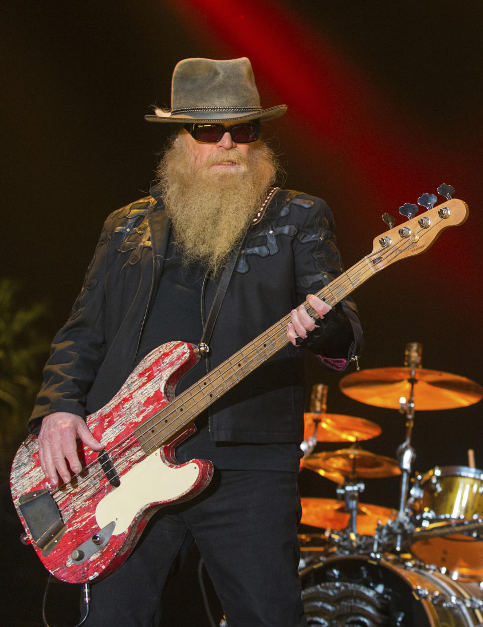
[[[77,440],[93,451],[103,448],[80,416],[59,411],[43,418],[38,437],[39,458],[44,475],[51,485],[57,485],[59,477],[65,483],[70,481],[67,462],[73,473],[81,472]]]

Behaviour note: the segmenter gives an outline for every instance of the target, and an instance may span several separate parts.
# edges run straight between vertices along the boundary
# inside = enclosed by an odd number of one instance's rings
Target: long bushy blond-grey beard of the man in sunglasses
[[[212,164],[227,159],[243,171],[210,171]],[[252,144],[248,155],[236,148],[213,153],[198,169],[179,136],[158,166],[158,181],[184,263],[200,263],[217,275],[244,237],[277,171],[273,150],[262,142]]]

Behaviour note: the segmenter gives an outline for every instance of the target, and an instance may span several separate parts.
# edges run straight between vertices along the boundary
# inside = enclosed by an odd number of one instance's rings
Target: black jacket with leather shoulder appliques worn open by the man
[[[101,408],[132,371],[153,295],[163,288],[170,232],[158,188],[150,193],[106,219],[81,293],[53,340],[31,416],[33,431],[47,414],[85,416]],[[299,192],[276,192],[242,247],[210,341],[211,366],[341,271],[328,206]],[[350,299],[330,315],[307,344],[326,366],[343,370],[360,353],[360,320]],[[303,387],[303,349],[287,344],[212,406],[212,438],[300,441]]]

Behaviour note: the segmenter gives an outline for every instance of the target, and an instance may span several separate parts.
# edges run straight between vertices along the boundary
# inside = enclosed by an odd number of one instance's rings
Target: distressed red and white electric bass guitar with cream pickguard
[[[394,261],[422,253],[443,229],[464,223],[467,205],[450,198],[449,186],[439,192],[447,197],[439,206],[433,206],[433,194],[418,199],[428,209],[421,218],[414,217],[416,205],[403,205],[400,213],[409,220],[401,228],[385,214],[391,228],[375,238],[370,255],[318,297],[333,307]],[[304,307],[316,315],[307,302]],[[36,437],[24,441],[11,470],[12,496],[23,539],[55,577],[81,583],[108,576],[128,557],[158,508],[193,498],[208,485],[210,461],[179,464],[175,448],[194,433],[196,416],[288,342],[289,321],[286,315],[175,398],[177,381],[199,359],[197,347],[168,342],[150,352],[114,398],[86,419],[104,448],[97,453],[80,445],[83,470],[68,483],[51,487]]]

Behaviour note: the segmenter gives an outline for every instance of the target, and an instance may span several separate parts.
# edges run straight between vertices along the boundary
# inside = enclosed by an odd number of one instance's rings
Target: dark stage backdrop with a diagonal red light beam
[[[402,366],[405,344],[417,341],[423,367],[483,384],[482,13],[480,0],[6,3],[1,275],[22,281],[26,305],[48,301],[44,330],[53,335],[103,219],[150,187],[167,127],[143,115],[154,103],[169,107],[175,63],[248,56],[262,104],[289,105],[266,129],[287,173],[281,183],[330,204],[346,267],[370,253],[385,211],[401,218],[399,206],[442,182],[469,204],[467,223],[390,266],[355,300],[366,333],[363,369]],[[398,411],[346,398],[339,379],[309,361],[308,387],[330,386],[328,411],[380,424],[382,435],[363,446],[395,456],[404,436]],[[468,448],[483,468],[481,413],[480,404],[417,413],[415,470],[466,465]],[[335,485],[314,473],[303,470],[300,483],[303,496],[335,498]],[[361,500],[395,507],[397,487],[368,480]],[[19,594],[5,604],[17,616],[9,624],[39,624],[43,570],[29,549],[11,551],[19,567],[4,561],[6,590]],[[180,591],[194,596],[200,615],[191,624],[202,625],[192,562]],[[189,603],[182,605],[166,624],[188,622]],[[64,613],[61,624],[73,623]]]

